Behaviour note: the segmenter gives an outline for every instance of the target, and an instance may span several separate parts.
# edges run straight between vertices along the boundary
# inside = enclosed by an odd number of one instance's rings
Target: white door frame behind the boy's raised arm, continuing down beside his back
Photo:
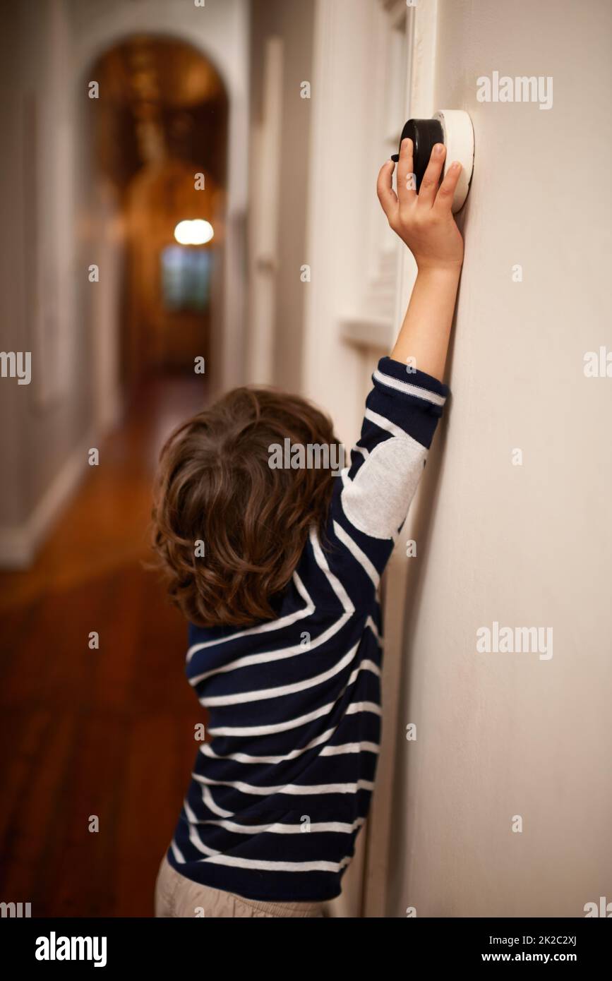
[[[352,445],[359,433],[372,373],[391,349],[416,278],[412,256],[388,229],[376,178],[384,159],[397,149],[405,120],[434,111],[436,21],[437,0],[419,0],[416,7],[406,0],[316,0],[306,249],[312,282],[305,297],[301,392],[325,406],[345,445]],[[397,55],[400,26],[403,68]],[[386,638],[377,782],[342,896],[331,904],[333,916],[385,915],[406,649],[403,551],[398,545],[383,581]]]

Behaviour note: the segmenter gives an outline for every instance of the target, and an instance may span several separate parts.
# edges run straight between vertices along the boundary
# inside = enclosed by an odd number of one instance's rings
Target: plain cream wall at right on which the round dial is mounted
[[[452,397],[405,529],[419,554],[391,916],[612,900],[612,378],[583,372],[585,352],[612,350],[611,15],[605,0],[439,3],[436,107],[469,110],[476,166]],[[495,70],[552,76],[553,107],[478,102]],[[477,653],[493,621],[551,627],[552,658]]]

